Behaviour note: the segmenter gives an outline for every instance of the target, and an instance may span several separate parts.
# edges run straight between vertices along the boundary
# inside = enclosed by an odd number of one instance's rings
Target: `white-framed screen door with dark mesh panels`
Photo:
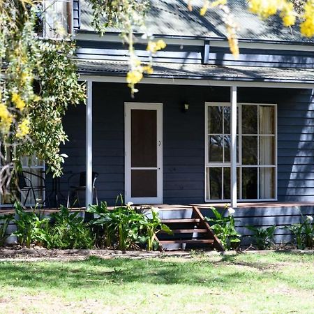
[[[163,203],[163,104],[126,103],[126,202]]]

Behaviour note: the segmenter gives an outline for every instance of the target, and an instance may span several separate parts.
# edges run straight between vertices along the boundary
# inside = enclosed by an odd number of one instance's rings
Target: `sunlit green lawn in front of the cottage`
[[[0,262],[0,313],[314,313],[314,255]]]

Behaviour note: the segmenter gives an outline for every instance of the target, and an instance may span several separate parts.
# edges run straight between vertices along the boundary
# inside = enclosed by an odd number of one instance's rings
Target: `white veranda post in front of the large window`
[[[230,88],[231,101],[231,207],[237,207],[237,87]]]

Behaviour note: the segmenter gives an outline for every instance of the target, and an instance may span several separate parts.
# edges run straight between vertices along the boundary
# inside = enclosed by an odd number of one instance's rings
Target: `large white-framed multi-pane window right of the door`
[[[230,200],[230,104],[205,105],[205,200]],[[276,105],[237,108],[237,197],[276,200]]]

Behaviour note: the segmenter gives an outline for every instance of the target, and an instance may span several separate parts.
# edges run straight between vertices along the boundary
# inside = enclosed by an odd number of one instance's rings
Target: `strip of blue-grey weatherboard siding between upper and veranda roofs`
[[[167,40],[165,39],[167,42]],[[228,47],[211,47],[209,51],[200,45],[167,45],[156,52],[154,62],[206,63],[216,66],[262,66],[278,68],[313,68],[313,52],[295,50],[267,50],[241,48],[239,58],[234,59]],[[135,45],[138,57],[149,61],[146,45]],[[77,40],[77,57],[89,60],[127,61],[128,46],[119,42]]]

